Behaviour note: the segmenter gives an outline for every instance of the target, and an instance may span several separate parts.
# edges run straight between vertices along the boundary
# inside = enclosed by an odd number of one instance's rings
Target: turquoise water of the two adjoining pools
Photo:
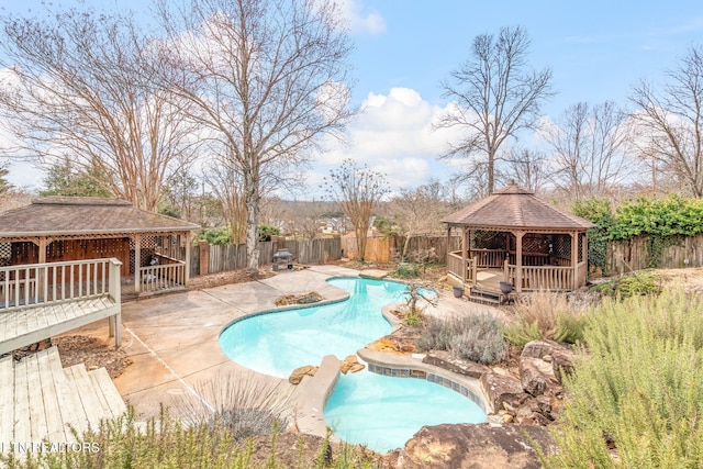
[[[384,304],[405,297],[405,286],[361,278],[328,280],[349,292],[339,303],[249,316],[227,326],[220,345],[230,358],[261,373],[288,378],[325,355],[344,359],[391,333]],[[325,421],[345,442],[377,451],[402,447],[423,425],[478,423],[483,411],[443,386],[369,371],[342,375],[324,410]]]

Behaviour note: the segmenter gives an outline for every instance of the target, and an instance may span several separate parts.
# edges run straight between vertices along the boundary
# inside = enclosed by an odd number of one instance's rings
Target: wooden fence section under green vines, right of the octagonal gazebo
[[[605,272],[627,273],[646,269],[651,253],[647,237],[634,237],[627,241],[610,242],[605,258]],[[703,267],[703,235],[673,239],[673,244],[663,248],[656,266],[661,269]]]

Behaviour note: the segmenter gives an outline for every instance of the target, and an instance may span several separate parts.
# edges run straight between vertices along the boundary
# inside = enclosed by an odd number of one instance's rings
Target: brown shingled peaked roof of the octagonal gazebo
[[[442,220],[450,226],[490,228],[587,230],[595,226],[518,186],[506,186]]]

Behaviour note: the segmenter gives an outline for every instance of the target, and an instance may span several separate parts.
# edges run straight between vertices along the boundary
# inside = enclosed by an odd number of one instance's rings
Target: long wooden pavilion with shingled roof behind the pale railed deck
[[[0,267],[116,258],[135,292],[182,287],[199,228],[119,199],[36,198],[0,214]]]

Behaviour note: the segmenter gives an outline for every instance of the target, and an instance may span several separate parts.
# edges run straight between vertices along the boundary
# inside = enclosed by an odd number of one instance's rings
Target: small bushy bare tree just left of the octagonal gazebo
[[[439,181],[429,181],[415,189],[401,189],[400,196],[390,201],[393,222],[400,227],[405,242],[401,255],[408,256],[410,238],[421,233],[436,233],[443,228],[440,220],[451,212],[444,201],[443,186]]]

